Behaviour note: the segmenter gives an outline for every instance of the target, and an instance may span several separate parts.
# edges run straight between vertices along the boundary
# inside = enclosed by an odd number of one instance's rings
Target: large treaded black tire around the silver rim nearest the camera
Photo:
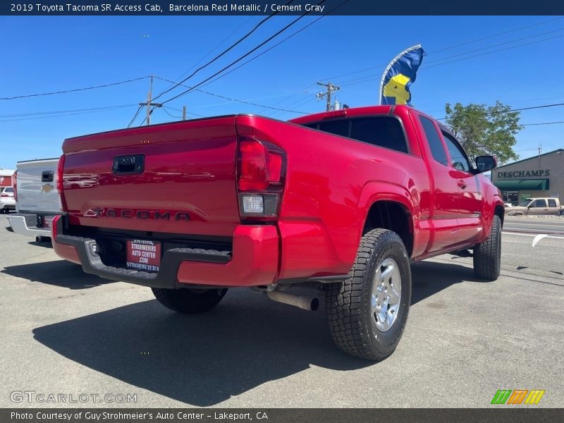
[[[376,301],[372,290],[376,272],[381,271],[386,259],[393,259],[397,265],[401,295],[395,320],[381,331],[372,308]],[[342,283],[331,283],[326,293],[326,313],[333,341],[349,355],[384,360],[400,341],[411,301],[410,260],[401,238],[387,229],[369,231],[360,240],[357,258],[348,276]]]

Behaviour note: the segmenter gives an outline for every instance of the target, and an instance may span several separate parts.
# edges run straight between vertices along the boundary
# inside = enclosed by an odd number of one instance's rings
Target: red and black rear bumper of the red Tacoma
[[[157,273],[106,266],[92,253],[92,238],[66,235],[62,216],[53,220],[53,247],[57,255],[82,265],[87,274],[153,288],[183,286],[259,286],[278,274],[278,232],[275,226],[240,225],[233,233],[231,254],[212,250],[166,250]]]

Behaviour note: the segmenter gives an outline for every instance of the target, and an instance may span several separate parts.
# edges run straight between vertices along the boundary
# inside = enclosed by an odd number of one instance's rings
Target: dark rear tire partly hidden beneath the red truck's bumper
[[[211,310],[223,299],[227,288],[222,289],[165,289],[151,288],[157,300],[175,312],[185,314],[203,313]]]

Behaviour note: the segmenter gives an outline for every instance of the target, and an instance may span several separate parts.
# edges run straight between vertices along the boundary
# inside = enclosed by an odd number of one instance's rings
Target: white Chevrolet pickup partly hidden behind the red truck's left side
[[[50,240],[51,220],[61,214],[58,164],[59,159],[18,161],[13,179],[16,214],[8,216],[15,233],[38,242]]]

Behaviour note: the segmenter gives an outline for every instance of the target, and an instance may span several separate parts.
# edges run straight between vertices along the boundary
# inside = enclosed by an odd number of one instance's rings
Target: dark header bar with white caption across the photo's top
[[[4,0],[3,16],[559,16],[562,0]]]

